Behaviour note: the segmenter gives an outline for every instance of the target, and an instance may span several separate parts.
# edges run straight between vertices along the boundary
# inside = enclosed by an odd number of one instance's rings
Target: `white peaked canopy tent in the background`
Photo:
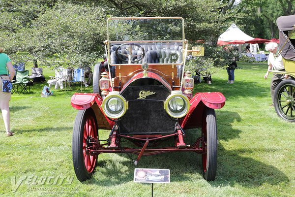
[[[246,33],[243,33],[235,23],[231,25],[224,33],[222,33],[218,40],[222,40],[225,42],[233,41],[233,40],[243,40],[243,41],[248,41],[252,40],[254,37],[251,37],[250,35],[247,35]],[[239,51],[242,51],[242,45],[239,44],[238,47]],[[250,51],[251,53],[256,54],[257,50],[259,51],[259,46],[258,44],[250,44]]]

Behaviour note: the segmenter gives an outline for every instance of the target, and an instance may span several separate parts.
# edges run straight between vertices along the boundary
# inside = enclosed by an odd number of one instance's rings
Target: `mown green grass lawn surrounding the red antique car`
[[[281,120],[269,106],[271,76],[264,79],[267,65],[238,63],[238,67],[234,84],[227,84],[226,70],[219,70],[211,85],[202,82],[194,89],[218,91],[227,99],[226,105],[216,110],[219,145],[215,181],[203,179],[200,155],[179,152],[142,157],[138,166],[126,154],[101,154],[94,178],[80,183],[71,155],[77,110],[70,104],[80,87],[53,90],[54,96],[41,98],[46,83],[40,83],[31,87],[30,94],[12,95],[11,130],[15,136],[5,136],[0,118],[0,196],[148,197],[151,185],[133,182],[134,168],[141,167],[171,170],[170,184],[154,184],[155,197],[293,197],[295,125]],[[54,71],[43,69],[47,80],[54,76]],[[92,87],[83,90],[91,91]],[[186,131],[186,137],[194,132]],[[107,138],[109,131],[99,134]],[[13,180],[24,176],[74,179],[70,185],[29,185],[23,181],[13,192]]]

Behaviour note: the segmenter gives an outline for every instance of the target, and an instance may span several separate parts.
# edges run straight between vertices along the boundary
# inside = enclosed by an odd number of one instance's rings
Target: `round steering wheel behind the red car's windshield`
[[[126,47],[127,54],[119,52],[119,50],[122,48],[122,46],[127,46]],[[139,48],[139,50],[136,50],[136,51],[141,51],[142,53],[141,54],[132,54],[132,50],[134,50],[134,49],[132,49],[132,46],[137,46]],[[145,53],[145,49],[139,44],[124,43],[124,44],[121,44],[120,46],[118,46],[118,48],[116,49],[116,57],[122,62],[127,62],[126,59],[121,58],[121,56],[119,56],[119,55],[121,55],[123,57],[124,56],[127,57],[128,64],[131,64],[131,63],[137,63],[137,62],[141,61],[145,57],[146,53]],[[140,56],[139,59],[133,60],[134,57],[138,57],[138,56]]]

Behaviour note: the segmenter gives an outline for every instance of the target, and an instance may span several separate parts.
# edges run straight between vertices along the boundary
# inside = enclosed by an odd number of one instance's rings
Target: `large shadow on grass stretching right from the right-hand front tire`
[[[228,151],[222,144],[219,144],[218,151],[219,165],[215,181],[210,182],[212,186],[234,186],[238,183],[243,187],[259,187],[265,183],[279,185],[290,181],[288,176],[276,167],[241,156],[245,153],[257,152],[256,149],[245,148]],[[260,151],[269,152],[268,149]]]

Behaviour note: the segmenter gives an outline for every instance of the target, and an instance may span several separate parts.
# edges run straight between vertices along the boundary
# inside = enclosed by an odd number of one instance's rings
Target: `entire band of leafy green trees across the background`
[[[294,1],[0,0],[0,43],[16,62],[26,57],[83,66],[103,56],[106,19],[111,16],[181,16],[188,40],[214,46],[232,22],[252,36],[274,37],[276,18],[294,14]]]

